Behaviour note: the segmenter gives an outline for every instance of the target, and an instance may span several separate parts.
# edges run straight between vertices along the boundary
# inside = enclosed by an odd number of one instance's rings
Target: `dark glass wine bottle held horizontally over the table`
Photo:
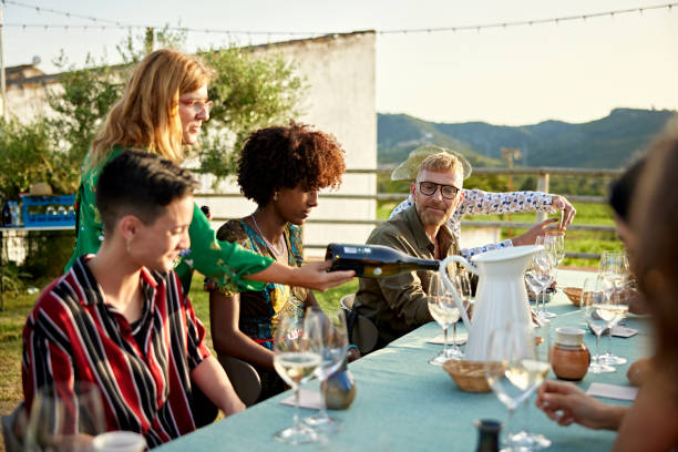
[[[405,271],[438,270],[440,261],[420,259],[382,245],[329,244],[329,271],[355,270],[362,278],[387,278]]]

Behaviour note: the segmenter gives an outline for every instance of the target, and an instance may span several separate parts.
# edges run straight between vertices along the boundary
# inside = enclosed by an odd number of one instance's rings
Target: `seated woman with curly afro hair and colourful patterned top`
[[[237,243],[281,265],[304,261],[299,226],[318,205],[320,188],[336,188],[345,172],[343,150],[329,134],[308,125],[261,129],[249,135],[240,154],[238,184],[257,209],[224,224],[220,240]],[[310,290],[268,284],[261,291],[240,294],[206,281],[214,348],[219,355],[251,363],[261,378],[264,400],[285,386],[273,366],[273,337],[282,310],[304,315],[317,305]]]

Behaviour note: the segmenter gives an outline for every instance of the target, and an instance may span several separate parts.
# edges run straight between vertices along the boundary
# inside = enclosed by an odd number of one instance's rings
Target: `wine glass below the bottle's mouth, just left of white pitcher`
[[[433,317],[443,329],[443,349],[439,355],[431,358],[429,363],[442,366],[450,359],[463,356],[459,348],[456,348],[456,343],[454,348],[448,348],[448,329],[450,325],[456,323],[460,312],[454,302],[454,298],[452,298],[452,294],[448,291],[448,288],[438,273],[431,275],[428,294],[429,312],[431,312],[431,317]],[[455,340],[455,338],[453,339]]]

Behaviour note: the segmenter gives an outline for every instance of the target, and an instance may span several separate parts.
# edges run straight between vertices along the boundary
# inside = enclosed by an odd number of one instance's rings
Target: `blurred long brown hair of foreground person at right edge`
[[[678,123],[677,123],[678,125]],[[678,378],[678,129],[650,148],[633,202],[634,270],[655,322],[656,359]]]

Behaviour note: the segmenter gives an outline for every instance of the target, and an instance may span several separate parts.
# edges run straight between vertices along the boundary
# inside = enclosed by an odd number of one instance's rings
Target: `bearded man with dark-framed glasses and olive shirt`
[[[456,156],[430,155],[410,185],[414,205],[374,228],[367,243],[424,259],[459,254],[446,222],[464,196],[463,179],[464,167]],[[430,275],[411,271],[390,278],[360,278],[353,309],[377,326],[377,348],[433,320],[427,301]]]

